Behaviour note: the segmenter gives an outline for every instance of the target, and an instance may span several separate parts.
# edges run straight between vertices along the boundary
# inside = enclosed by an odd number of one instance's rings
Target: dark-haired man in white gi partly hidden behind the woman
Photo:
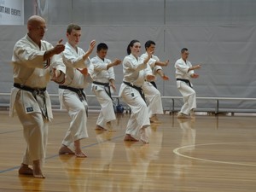
[[[146,53],[141,55],[141,57],[146,59],[148,57],[148,53],[154,54],[155,43],[154,41],[148,40],[145,44]],[[148,61],[148,70],[151,70],[154,75],[159,74],[163,80],[168,80],[169,77],[163,73],[162,67],[166,67],[169,61],[160,61],[160,59],[156,55],[152,55],[150,60]],[[156,84],[154,81],[147,82],[145,81],[143,84],[143,91],[146,97],[146,101],[148,103],[148,113],[150,117],[151,123],[160,123],[156,114],[162,114],[163,106],[160,96],[160,91],[157,90]]]

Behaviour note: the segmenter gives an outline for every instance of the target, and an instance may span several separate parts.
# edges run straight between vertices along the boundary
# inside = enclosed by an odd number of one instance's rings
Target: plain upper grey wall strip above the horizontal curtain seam
[[[255,24],[255,0],[26,0],[51,25]],[[27,18],[25,18],[27,19]]]

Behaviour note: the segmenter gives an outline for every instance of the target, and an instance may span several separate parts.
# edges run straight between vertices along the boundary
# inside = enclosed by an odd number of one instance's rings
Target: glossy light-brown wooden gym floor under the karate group
[[[18,175],[25,148],[19,120],[0,111],[0,192],[255,192],[256,116],[197,114],[195,120],[159,115],[149,144],[123,141],[129,113],[119,114],[115,132],[95,131],[89,113],[88,158],[58,155],[69,125],[54,111],[49,125],[45,179]]]

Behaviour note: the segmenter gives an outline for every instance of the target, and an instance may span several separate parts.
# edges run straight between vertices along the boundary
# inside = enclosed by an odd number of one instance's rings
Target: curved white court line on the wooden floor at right
[[[255,142],[254,142],[255,143]],[[244,144],[244,143],[207,143],[207,144],[198,144],[198,145],[186,145],[180,148],[173,149],[173,153],[177,154],[179,156],[182,156],[184,158],[188,158],[191,160],[202,160],[206,162],[213,162],[213,163],[222,163],[222,164],[229,164],[229,165],[236,165],[236,166],[256,166],[256,164],[245,164],[245,163],[234,163],[234,162],[228,162],[228,161],[220,161],[220,160],[207,160],[207,159],[201,159],[196,157],[191,157],[185,154],[180,154],[178,151],[183,148],[195,148],[196,146],[205,146],[205,145],[221,145],[221,144]]]

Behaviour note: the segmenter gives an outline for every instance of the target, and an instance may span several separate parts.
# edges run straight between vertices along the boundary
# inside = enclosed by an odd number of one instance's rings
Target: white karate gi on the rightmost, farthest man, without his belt
[[[190,75],[194,73],[194,70],[189,71],[189,67],[192,67],[189,61],[185,62],[183,61],[182,58],[180,58],[175,62],[174,67],[176,68],[176,79],[187,79],[190,81]],[[192,86],[191,82],[190,84]],[[177,80],[177,89],[183,95],[184,102],[183,107],[180,110],[180,113],[189,115],[190,110],[196,108],[195,90],[192,87],[190,87],[189,84],[186,84],[185,82],[180,80]]]

